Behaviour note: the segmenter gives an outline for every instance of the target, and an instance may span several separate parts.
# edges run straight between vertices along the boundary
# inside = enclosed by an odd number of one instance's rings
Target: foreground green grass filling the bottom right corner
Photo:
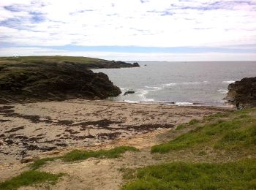
[[[144,167],[122,189],[256,189],[256,159],[225,164],[173,162]]]

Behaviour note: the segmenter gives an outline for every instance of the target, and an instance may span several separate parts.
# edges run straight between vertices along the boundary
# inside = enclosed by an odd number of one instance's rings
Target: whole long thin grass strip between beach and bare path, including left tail
[[[52,157],[52,158],[45,158],[45,159],[37,159],[34,163],[30,164],[30,168],[32,170],[37,170],[39,167],[47,164],[48,161],[54,161],[56,159],[61,159],[62,161],[80,161],[89,158],[107,158],[113,159],[118,158],[121,156],[121,153],[125,153],[126,151],[138,151],[137,148],[132,146],[119,146],[116,148],[112,148],[110,150],[99,150],[99,151],[81,151],[81,150],[74,150],[70,151],[69,153],[65,153],[63,156]]]

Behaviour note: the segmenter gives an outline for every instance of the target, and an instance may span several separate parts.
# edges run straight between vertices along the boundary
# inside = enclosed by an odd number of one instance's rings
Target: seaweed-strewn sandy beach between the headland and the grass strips
[[[99,150],[118,145],[147,148],[158,134],[178,124],[200,119],[227,107],[187,107],[164,104],[68,100],[0,107],[0,180],[28,162],[74,148]]]

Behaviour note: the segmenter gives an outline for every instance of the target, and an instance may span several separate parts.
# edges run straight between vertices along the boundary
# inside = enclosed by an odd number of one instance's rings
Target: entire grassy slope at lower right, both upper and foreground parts
[[[256,109],[211,115],[176,130],[186,128],[192,130],[155,145],[151,153],[172,158],[190,151],[189,156],[197,154],[203,161],[184,162],[181,156],[178,161],[140,168],[123,189],[256,189]],[[221,159],[208,159],[207,148],[220,152]],[[235,154],[234,161],[228,161]]]

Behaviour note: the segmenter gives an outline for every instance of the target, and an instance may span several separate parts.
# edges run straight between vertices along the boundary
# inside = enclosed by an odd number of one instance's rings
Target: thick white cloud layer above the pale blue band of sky
[[[255,18],[255,0],[1,0],[0,43],[13,47],[252,45]]]

